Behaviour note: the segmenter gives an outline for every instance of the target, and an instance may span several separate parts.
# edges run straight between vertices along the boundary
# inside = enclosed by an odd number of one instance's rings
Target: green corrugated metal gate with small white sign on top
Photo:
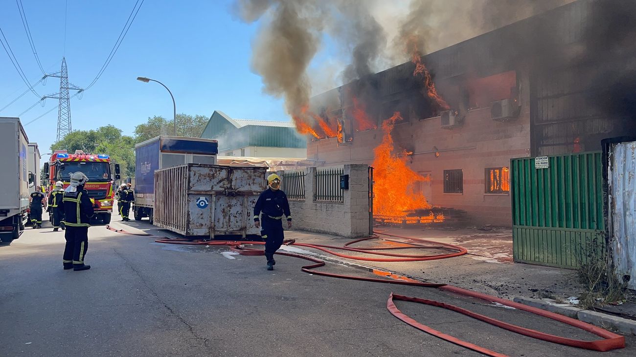
[[[604,252],[602,154],[511,159],[515,262],[575,269]],[[541,160],[541,159],[540,159]]]

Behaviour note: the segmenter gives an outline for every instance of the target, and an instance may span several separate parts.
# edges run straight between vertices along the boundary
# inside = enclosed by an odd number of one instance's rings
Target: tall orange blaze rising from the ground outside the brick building
[[[374,215],[401,217],[408,211],[431,207],[415,187],[416,182],[427,179],[406,166],[406,151],[396,152],[394,147],[391,131],[399,119],[402,119],[399,112],[385,119],[382,123],[382,143],[374,149]]]

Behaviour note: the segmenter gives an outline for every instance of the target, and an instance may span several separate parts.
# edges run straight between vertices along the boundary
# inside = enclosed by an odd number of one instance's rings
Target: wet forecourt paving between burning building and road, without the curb
[[[566,299],[581,293],[575,271],[513,263],[512,234],[509,230],[478,231],[476,229],[458,229],[450,231],[382,227],[378,231],[460,245],[468,250],[468,254],[450,259],[422,262],[349,260],[350,262],[403,274],[418,280],[448,283],[462,288],[470,288],[510,300],[518,296],[534,299],[544,297]],[[334,246],[342,246],[352,240],[303,231],[287,231],[285,236],[302,243]],[[372,245],[390,245],[390,243],[376,240],[373,241]],[[357,246],[365,246],[365,244],[359,243]],[[366,246],[369,246],[369,244]],[[404,253],[408,253],[408,251],[404,251]]]

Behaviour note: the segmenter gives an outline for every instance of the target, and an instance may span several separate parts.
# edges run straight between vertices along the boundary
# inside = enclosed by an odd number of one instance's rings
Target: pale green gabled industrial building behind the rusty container
[[[305,158],[307,142],[289,121],[232,119],[214,111],[201,135],[219,141],[219,156]]]

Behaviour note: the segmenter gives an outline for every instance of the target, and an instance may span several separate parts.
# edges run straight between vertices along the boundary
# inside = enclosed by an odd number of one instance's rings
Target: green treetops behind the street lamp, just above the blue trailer
[[[207,116],[177,114],[177,136],[201,137],[205,125],[209,119]],[[135,126],[135,142],[138,144],[157,135],[174,135],[174,123],[162,116],[148,118],[148,122]]]

